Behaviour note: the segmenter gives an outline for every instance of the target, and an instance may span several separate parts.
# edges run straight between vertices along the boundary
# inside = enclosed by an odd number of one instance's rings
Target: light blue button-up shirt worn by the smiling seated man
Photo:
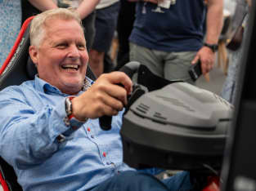
[[[59,143],[65,134],[65,95],[40,78],[0,91],[0,155],[14,167],[25,191],[85,190],[119,171],[134,170],[123,162],[119,130],[102,131],[89,119]]]

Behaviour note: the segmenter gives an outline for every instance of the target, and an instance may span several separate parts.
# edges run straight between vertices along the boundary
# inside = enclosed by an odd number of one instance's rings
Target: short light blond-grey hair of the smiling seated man
[[[47,20],[51,19],[77,20],[77,22],[83,29],[82,21],[79,17],[79,14],[72,9],[56,8],[44,11],[35,16],[31,22],[29,30],[30,45],[39,47],[45,35],[46,22]]]

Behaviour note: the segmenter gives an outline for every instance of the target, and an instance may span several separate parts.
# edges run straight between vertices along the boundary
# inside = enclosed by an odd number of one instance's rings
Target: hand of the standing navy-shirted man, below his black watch
[[[215,53],[209,47],[201,47],[191,64],[195,64],[198,60],[201,61],[202,73],[205,75],[213,69]]]

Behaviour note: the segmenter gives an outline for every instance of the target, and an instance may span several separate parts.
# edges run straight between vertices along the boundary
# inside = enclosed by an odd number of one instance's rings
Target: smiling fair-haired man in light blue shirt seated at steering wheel
[[[30,41],[38,74],[0,91],[0,155],[24,191],[191,189],[187,172],[161,182],[123,162],[119,130],[132,81],[121,72],[93,83],[85,77],[88,52],[78,15],[60,8],[35,16]],[[102,115],[115,115],[110,131],[101,130]]]

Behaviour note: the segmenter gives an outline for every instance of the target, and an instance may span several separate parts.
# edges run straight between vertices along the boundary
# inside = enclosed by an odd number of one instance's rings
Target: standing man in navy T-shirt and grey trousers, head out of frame
[[[130,60],[146,64],[160,77],[193,83],[191,64],[200,60],[204,74],[213,68],[222,9],[222,0],[138,1]]]

